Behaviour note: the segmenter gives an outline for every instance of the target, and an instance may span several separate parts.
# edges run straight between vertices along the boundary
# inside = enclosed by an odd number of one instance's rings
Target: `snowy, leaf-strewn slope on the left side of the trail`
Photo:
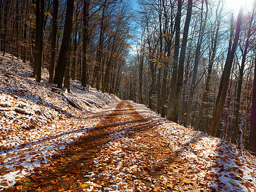
[[[42,83],[36,83],[28,64],[0,57],[0,189],[51,161],[119,101],[93,88],[86,92],[77,81],[72,81],[72,93],[60,95],[47,83],[46,70],[43,74]]]

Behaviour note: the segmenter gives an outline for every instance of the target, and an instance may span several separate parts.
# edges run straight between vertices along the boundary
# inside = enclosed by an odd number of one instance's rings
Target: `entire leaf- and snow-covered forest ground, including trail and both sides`
[[[256,191],[256,158],[72,81],[0,57],[0,191]]]

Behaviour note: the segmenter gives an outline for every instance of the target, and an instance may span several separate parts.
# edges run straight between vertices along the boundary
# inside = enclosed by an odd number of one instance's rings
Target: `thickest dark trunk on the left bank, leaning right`
[[[74,0],[67,0],[67,11],[64,25],[63,40],[61,43],[60,55],[56,65],[55,76],[53,79],[53,83],[58,84],[58,88],[62,88],[63,83],[63,77],[68,56],[68,49],[70,46],[70,40],[72,36],[73,12]]]

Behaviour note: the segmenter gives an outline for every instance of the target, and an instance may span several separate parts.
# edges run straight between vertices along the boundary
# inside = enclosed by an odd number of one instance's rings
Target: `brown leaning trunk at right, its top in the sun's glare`
[[[211,124],[209,127],[209,134],[211,134],[212,136],[216,136],[218,132],[218,125],[220,124],[221,115],[224,108],[225,99],[227,96],[230,70],[234,60],[234,54],[236,52],[237,42],[239,39],[240,30],[241,30],[242,16],[243,16],[243,7],[241,6],[239,10],[239,14],[237,16],[236,35],[234,38],[234,43],[232,45],[232,49],[230,53],[227,55],[227,60],[226,60],[223,74],[221,77],[219,93],[216,100],[216,106],[214,108]]]

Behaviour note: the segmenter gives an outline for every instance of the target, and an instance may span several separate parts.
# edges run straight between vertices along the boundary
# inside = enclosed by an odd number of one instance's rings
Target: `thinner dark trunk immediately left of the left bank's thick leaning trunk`
[[[53,12],[52,12],[52,38],[51,38],[51,65],[49,70],[49,83],[52,83],[54,76],[54,68],[56,61],[56,39],[58,31],[58,8],[59,0],[53,0]]]

